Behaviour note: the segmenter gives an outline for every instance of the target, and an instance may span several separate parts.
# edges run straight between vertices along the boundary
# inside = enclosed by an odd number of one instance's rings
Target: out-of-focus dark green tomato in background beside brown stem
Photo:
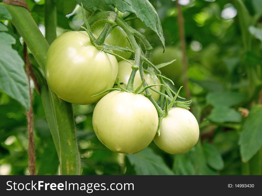
[[[162,47],[154,48],[150,61],[154,65],[160,63],[169,62],[173,59],[177,59],[170,65],[160,68],[163,75],[167,76],[169,79],[173,80],[176,86],[183,85],[183,64],[182,64],[182,52],[180,49],[174,46],[166,46],[166,50],[163,53]]]

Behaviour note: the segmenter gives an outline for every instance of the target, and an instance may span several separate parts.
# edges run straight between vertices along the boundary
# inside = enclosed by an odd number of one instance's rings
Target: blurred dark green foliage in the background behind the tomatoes
[[[44,33],[44,0],[26,2]],[[83,24],[79,6],[75,8],[76,3],[72,0],[55,2],[57,35],[78,30]],[[174,1],[150,2],[160,17],[166,46],[180,48]],[[191,110],[200,127],[199,142],[188,153],[180,155],[169,155],[153,142],[134,155],[114,153],[99,142],[93,132],[95,104],[74,105],[82,175],[262,174],[262,109],[259,106],[262,96],[259,97],[262,81],[262,12],[258,9],[259,6],[261,8],[261,1],[246,0],[244,4],[240,0],[188,2],[182,6],[187,76],[193,100]],[[161,45],[155,33],[139,19],[131,20],[129,24],[143,33],[154,48]],[[20,35],[10,23],[7,26],[10,34],[17,38],[13,48],[21,55]],[[157,53],[160,53],[159,49]],[[33,57],[30,57],[33,66],[37,67]],[[166,57],[163,61],[170,59]],[[173,69],[172,78],[177,84],[176,89],[183,85],[181,66],[178,69]],[[177,71],[180,71],[180,76],[176,75]],[[59,174],[59,161],[40,95],[35,90],[32,93],[38,175]],[[182,96],[184,93],[182,91]],[[241,113],[243,108],[245,113]],[[0,91],[0,175],[28,174],[27,137],[26,111],[17,101]]]

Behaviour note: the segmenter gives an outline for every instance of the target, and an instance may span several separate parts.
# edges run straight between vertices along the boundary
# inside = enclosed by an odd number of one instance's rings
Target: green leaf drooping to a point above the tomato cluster
[[[165,46],[165,39],[163,36],[163,30],[160,19],[157,15],[155,8],[150,4],[148,0],[133,1],[133,0],[74,0],[78,4],[88,10],[107,10],[114,11],[115,7],[120,12],[131,12],[134,13],[145,25],[152,29],[159,37],[163,47]]]

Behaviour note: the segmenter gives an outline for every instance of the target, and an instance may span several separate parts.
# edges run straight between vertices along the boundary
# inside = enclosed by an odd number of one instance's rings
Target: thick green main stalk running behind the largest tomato
[[[12,15],[11,22],[23,37],[42,70],[45,70],[49,45],[28,10],[24,7],[0,4],[9,10]],[[58,146],[60,147],[60,150],[57,150],[60,158],[60,173],[62,175],[79,175],[81,172],[80,156],[75,137],[72,105],[54,95],[46,83],[43,83],[40,89],[43,92],[41,98],[54,144],[57,149]]]

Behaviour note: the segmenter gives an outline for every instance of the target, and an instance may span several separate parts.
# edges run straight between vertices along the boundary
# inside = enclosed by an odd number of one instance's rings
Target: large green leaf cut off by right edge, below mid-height
[[[262,146],[262,106],[254,106],[242,126],[239,138],[240,154],[249,161]]]

